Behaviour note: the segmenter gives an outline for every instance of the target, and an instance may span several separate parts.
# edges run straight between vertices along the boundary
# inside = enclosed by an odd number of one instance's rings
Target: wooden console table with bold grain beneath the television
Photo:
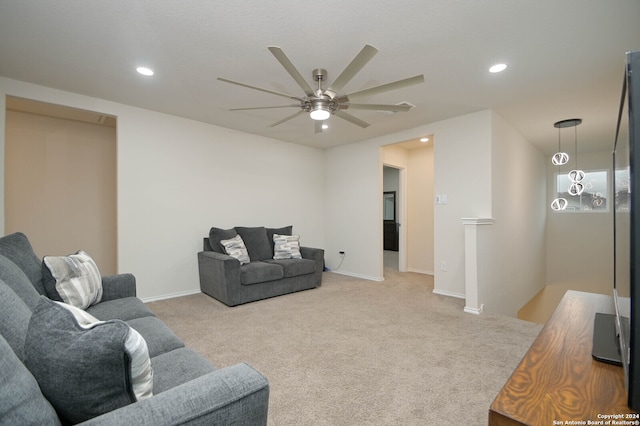
[[[612,418],[603,416],[616,414],[640,420],[627,407],[622,367],[591,357],[595,313],[613,309],[610,296],[568,291],[491,404],[489,425],[604,425]]]

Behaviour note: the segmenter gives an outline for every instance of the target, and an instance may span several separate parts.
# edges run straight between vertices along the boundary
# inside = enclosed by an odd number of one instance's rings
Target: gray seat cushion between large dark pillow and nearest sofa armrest
[[[215,370],[202,355],[180,348],[151,358],[153,392],[157,395]]]

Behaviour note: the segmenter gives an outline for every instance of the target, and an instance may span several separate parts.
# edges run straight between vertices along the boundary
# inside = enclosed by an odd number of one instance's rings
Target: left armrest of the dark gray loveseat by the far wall
[[[198,252],[200,290],[223,303],[234,306],[240,286],[240,261],[214,251]]]

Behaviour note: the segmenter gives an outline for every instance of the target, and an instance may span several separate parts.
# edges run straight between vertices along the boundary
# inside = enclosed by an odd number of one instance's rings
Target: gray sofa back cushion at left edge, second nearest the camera
[[[18,358],[24,359],[24,340],[27,336],[27,326],[31,318],[31,310],[0,280],[0,334],[4,336]]]

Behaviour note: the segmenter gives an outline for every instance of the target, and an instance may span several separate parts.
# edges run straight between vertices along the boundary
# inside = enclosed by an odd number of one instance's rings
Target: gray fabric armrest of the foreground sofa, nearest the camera
[[[247,364],[213,371],[83,425],[266,425],[267,379]]]

